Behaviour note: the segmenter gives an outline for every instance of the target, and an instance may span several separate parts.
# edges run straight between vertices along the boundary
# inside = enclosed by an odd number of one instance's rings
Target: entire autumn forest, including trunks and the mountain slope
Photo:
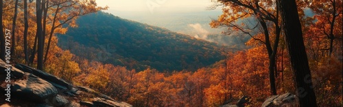
[[[211,1],[206,11],[221,14],[208,25],[244,44],[120,18],[95,0],[0,3],[3,61],[10,51],[13,66],[132,106],[214,107],[249,96],[237,106],[255,107],[284,93],[296,106],[343,106],[342,0]]]

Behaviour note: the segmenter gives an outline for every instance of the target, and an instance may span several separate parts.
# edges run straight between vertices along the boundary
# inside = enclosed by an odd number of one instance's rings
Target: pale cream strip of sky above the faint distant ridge
[[[196,12],[209,7],[211,0],[97,0],[97,5],[110,7],[106,12],[141,12],[161,14],[168,12]]]

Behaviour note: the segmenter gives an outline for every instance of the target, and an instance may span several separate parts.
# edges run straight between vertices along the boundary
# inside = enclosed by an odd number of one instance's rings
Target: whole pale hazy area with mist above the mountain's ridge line
[[[216,0],[213,0],[216,1]],[[211,0],[96,0],[97,5],[109,7],[108,12],[121,18],[163,27],[178,33],[208,40],[209,34],[222,29],[209,26],[211,18],[222,14],[221,7],[209,10]]]

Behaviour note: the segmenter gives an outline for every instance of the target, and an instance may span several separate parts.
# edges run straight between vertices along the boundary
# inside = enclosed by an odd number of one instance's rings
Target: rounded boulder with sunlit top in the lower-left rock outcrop
[[[33,74],[25,73],[23,80],[17,80],[12,85],[12,93],[19,97],[28,98],[34,102],[44,102],[47,99],[55,97],[58,93],[57,89],[49,82],[34,76]]]

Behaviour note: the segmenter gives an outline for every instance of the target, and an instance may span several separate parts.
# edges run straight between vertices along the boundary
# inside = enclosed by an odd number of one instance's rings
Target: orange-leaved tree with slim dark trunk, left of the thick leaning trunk
[[[211,22],[211,27],[229,27],[233,28],[233,31],[241,31],[244,35],[250,35],[252,39],[258,40],[265,48],[267,48],[269,57],[269,79],[270,79],[270,92],[272,95],[276,95],[276,85],[275,85],[275,63],[276,63],[276,52],[279,46],[279,38],[281,35],[281,27],[279,26],[279,11],[276,7],[276,2],[273,1],[237,1],[237,0],[218,0],[225,6],[223,8],[223,14],[218,18],[218,20],[213,20]],[[270,6],[272,5],[272,6]],[[241,22],[239,25],[239,20],[248,19],[253,16],[257,19],[256,24],[245,25]],[[272,22],[273,25],[269,23]],[[261,37],[255,37],[251,32],[256,32],[258,26],[264,35],[264,40]],[[269,29],[270,26],[274,27],[274,33]],[[275,37],[272,37],[272,34]],[[263,37],[262,37],[263,38]],[[272,40],[272,41],[270,41]]]

